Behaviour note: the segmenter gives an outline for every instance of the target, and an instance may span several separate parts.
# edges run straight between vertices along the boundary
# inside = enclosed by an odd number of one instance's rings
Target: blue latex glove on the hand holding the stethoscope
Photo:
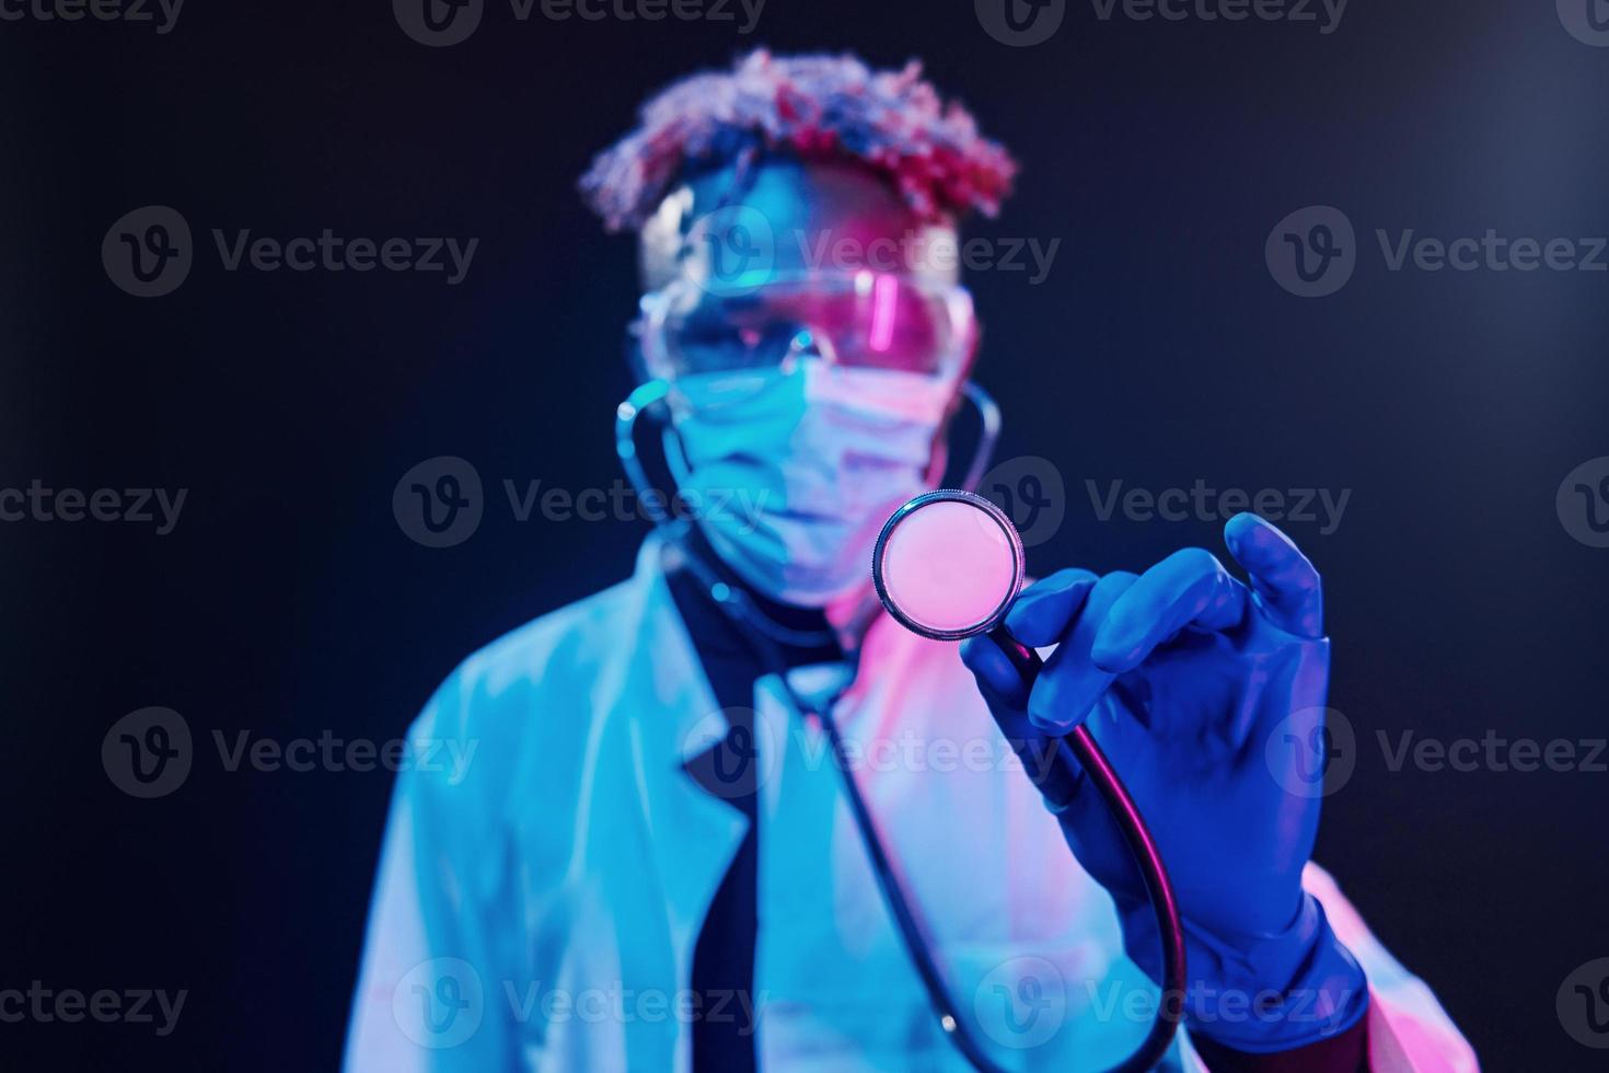
[[[1250,586],[1202,549],[1139,576],[1064,569],[1031,586],[1006,619],[1023,643],[1057,645],[1031,693],[988,639],[962,658],[1007,737],[1088,722],[1173,878],[1186,1025],[1265,1054],[1355,1025],[1368,985],[1302,890],[1321,800],[1305,775],[1329,682],[1318,571],[1255,515],[1231,518],[1224,542]],[[1099,793],[1081,782],[1059,819],[1117,902],[1130,957],[1160,980],[1144,882]]]

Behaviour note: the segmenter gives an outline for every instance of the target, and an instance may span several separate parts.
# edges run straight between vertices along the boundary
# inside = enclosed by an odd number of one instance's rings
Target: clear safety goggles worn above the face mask
[[[774,273],[722,294],[676,280],[642,296],[639,344],[648,375],[829,364],[954,378],[972,349],[972,294],[890,272]]]

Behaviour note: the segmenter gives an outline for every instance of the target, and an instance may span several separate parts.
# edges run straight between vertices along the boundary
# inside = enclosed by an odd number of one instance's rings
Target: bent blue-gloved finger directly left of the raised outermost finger
[[[1141,574],[1112,605],[1089,658],[1112,674],[1131,671],[1186,626],[1236,626],[1247,595],[1216,555],[1183,549]]]

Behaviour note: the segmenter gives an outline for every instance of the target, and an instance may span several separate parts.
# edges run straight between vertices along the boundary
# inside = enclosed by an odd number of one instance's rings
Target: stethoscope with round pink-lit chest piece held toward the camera
[[[981,465],[993,447],[999,428],[999,412],[975,384],[967,384],[967,397],[978,405],[985,436],[969,467],[969,484],[981,473]],[[666,384],[650,381],[637,388],[616,410],[615,446],[628,478],[637,487],[642,502],[656,502],[644,495],[650,489],[647,471],[636,444],[636,421],[665,405]],[[676,521],[668,513],[652,513],[655,528],[666,536],[668,547],[685,550],[682,534],[685,521]],[[814,717],[827,735],[833,761],[843,775],[845,796],[854,819],[861,843],[870,859],[883,902],[895,920],[899,938],[927,991],[928,1004],[938,1017],[938,1025],[961,1055],[980,1073],[1004,1073],[977,1038],[972,1034],[961,1009],[949,994],[944,975],[922,933],[917,914],[904,893],[899,877],[890,864],[877,822],[854,780],[854,764],[848,754],[843,735],[832,716],[833,705],[811,705],[788,682],[777,643],[777,624],[767,623],[758,608],[748,606],[742,592],[724,584],[714,571],[695,553],[677,557],[677,565],[690,569],[714,603],[737,624],[761,658],[764,666],[780,682],[788,701],[800,716]],[[946,489],[925,492],[899,507],[883,524],[872,550],[872,582],[877,597],[888,613],[906,629],[933,640],[964,640],[985,635],[1010,660],[1027,687],[1044,668],[1038,653],[1018,642],[1006,629],[1006,615],[1017,602],[1027,578],[1027,557],[1022,537],[1006,513],[990,500],[967,491]],[[875,606],[875,605],[872,605]],[[1022,759],[1051,811],[1065,809],[1078,793],[1080,771],[1105,801],[1113,822],[1123,832],[1134,862],[1139,865],[1157,914],[1157,931],[1162,938],[1162,997],[1157,1018],[1146,1039],[1128,1059],[1107,1073],[1141,1073],[1155,1067],[1167,1054],[1179,1026],[1184,994],[1184,930],[1173,896],[1167,867],[1150,837],[1146,820],[1123,787],[1123,780],[1107,761],[1088,727],[1078,726],[1060,738],[1054,750],[1046,751],[1014,735],[1010,727],[1001,727],[1007,743]]]

